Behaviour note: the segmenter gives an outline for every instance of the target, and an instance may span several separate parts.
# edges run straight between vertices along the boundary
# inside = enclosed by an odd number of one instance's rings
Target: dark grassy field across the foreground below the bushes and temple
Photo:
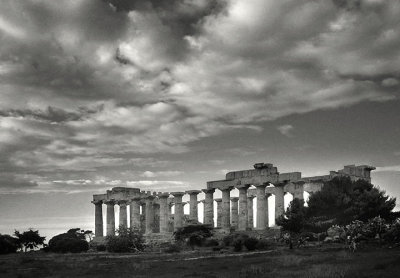
[[[400,249],[0,256],[0,277],[400,277]]]

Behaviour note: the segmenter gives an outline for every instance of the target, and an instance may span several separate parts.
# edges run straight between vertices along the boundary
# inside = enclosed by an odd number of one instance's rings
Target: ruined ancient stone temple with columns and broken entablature
[[[198,220],[198,203],[204,202],[204,224],[214,226],[214,202],[216,202],[216,228],[225,232],[232,230],[265,230],[269,227],[268,197],[275,197],[275,217],[284,213],[284,196],[304,199],[304,192],[312,194],[320,190],[325,181],[334,177],[347,176],[353,181],[363,179],[371,182],[374,167],[348,165],[328,175],[302,177],[300,172],[279,173],[269,163],[256,163],[254,169],[234,171],[226,174],[224,180],[209,181],[207,188],[185,192],[150,192],[139,188],[114,187],[105,194],[93,195],[95,205],[95,235],[104,236],[103,205],[106,206],[106,235],[115,233],[114,206],[119,206],[120,225],[135,227],[148,235],[169,234],[190,221]],[[239,197],[231,197],[231,190],[238,189]],[[222,198],[215,199],[216,190]],[[204,192],[204,200],[198,194]],[[182,197],[189,196],[189,215],[184,215]],[[253,201],[256,202],[254,219]],[[129,219],[128,219],[129,207]],[[174,213],[172,213],[174,207]],[[254,223],[256,226],[254,227]]]

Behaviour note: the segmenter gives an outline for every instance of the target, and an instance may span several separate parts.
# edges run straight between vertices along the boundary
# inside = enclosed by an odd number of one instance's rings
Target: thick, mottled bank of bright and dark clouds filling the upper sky
[[[172,177],[159,157],[207,137],[398,98],[397,0],[1,5],[7,192]]]

